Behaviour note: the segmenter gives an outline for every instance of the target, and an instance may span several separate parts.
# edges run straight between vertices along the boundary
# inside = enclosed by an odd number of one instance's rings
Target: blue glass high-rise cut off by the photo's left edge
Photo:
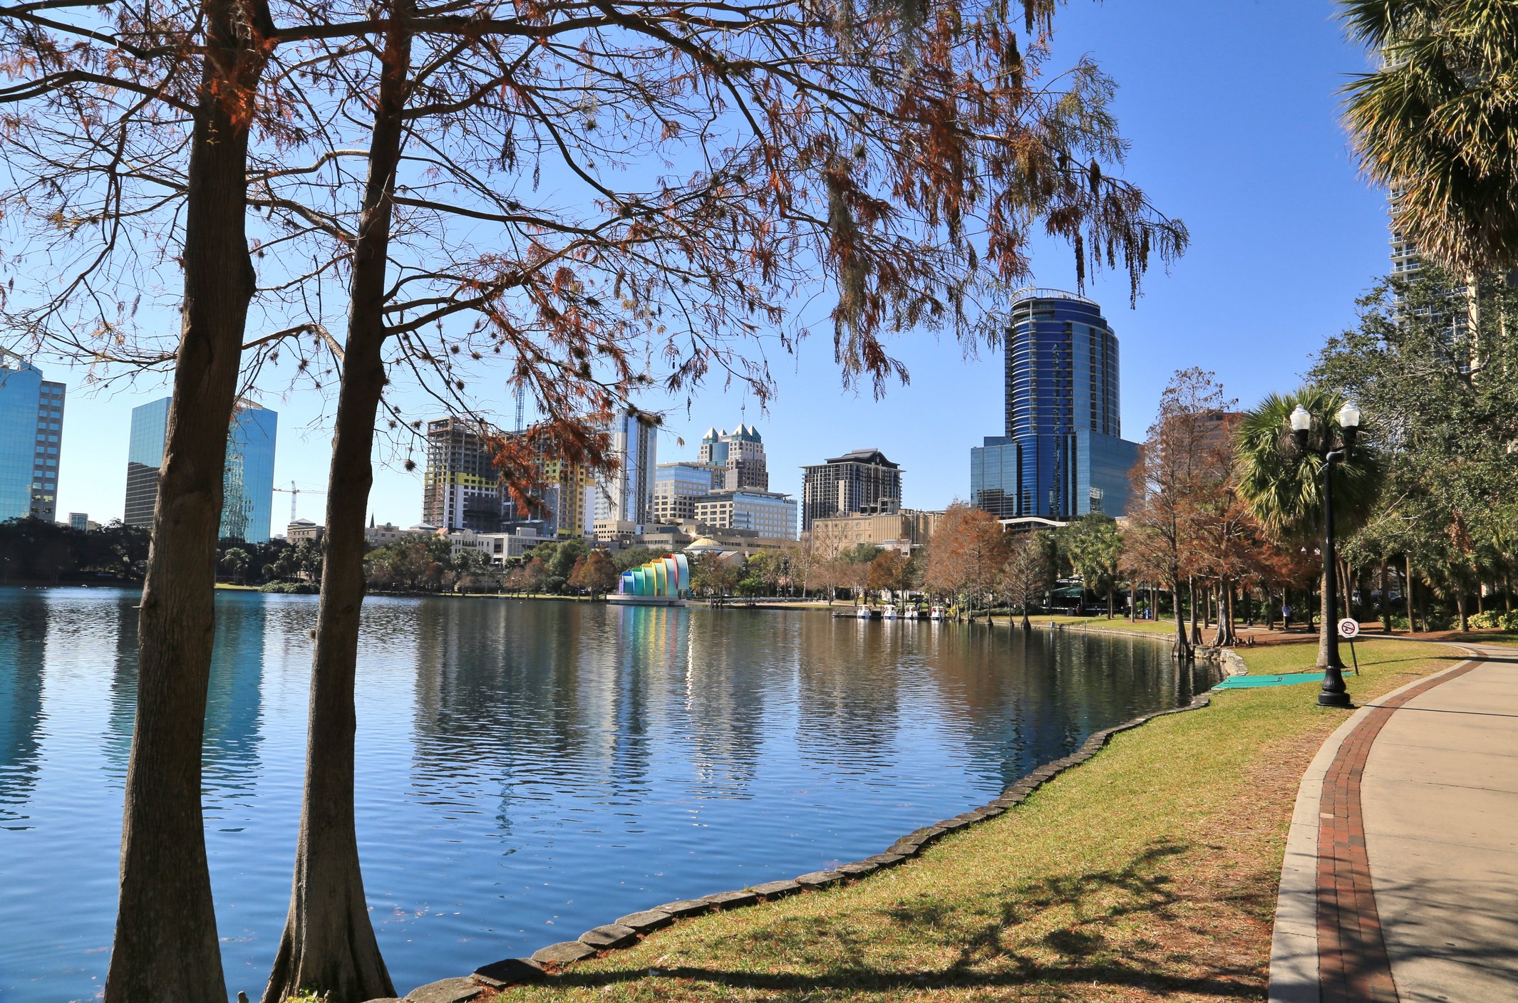
[[[58,514],[64,384],[0,349],[0,520]]]

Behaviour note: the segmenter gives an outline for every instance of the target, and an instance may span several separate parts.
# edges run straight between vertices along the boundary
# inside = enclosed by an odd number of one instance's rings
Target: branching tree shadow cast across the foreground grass
[[[716,995],[730,989],[797,998],[1019,986],[1064,997],[1060,986],[1093,983],[1158,995],[1260,997],[1260,965],[1240,961],[1231,945],[1219,944],[1208,910],[1196,910],[1195,900],[1176,888],[1172,871],[1193,866],[1205,851],[1161,839],[1120,868],[1017,886],[955,889],[959,897],[950,901],[921,892],[858,918],[841,913],[765,921],[754,913],[745,933],[724,942],[723,956],[777,957],[777,965],[805,971],[679,964],[660,967],[657,977],[709,983]],[[1213,913],[1220,909],[1258,920],[1274,906],[1274,886],[1266,885],[1246,882],[1230,894],[1208,897],[1207,904]],[[1263,901],[1266,897],[1271,903]],[[1053,918],[1058,926],[1044,930],[1050,912],[1060,913]],[[1020,929],[1025,924],[1031,929]],[[1135,927],[1142,936],[1132,935]],[[1123,933],[1114,936],[1119,930]],[[902,961],[914,951],[934,961]],[[946,953],[952,954],[947,962]],[[606,988],[648,977],[642,970],[571,970],[556,982],[565,988]]]

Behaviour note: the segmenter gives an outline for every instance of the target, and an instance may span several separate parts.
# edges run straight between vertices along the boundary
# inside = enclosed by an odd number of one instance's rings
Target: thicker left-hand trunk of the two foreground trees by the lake
[[[255,287],[246,237],[249,103],[267,59],[261,36],[273,24],[258,0],[206,0],[202,14],[206,52],[185,176],[185,293],[138,618],[137,722],[106,1003],[226,998],[200,750],[226,437]]]

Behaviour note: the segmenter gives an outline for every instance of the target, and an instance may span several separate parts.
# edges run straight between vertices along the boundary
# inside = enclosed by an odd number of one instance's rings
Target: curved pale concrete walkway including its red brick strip
[[[1281,866],[1271,1000],[1518,1001],[1518,649],[1387,693],[1319,750]]]

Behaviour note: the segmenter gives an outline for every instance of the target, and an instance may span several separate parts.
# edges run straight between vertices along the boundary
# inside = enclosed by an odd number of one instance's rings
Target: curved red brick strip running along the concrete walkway
[[[1381,920],[1375,910],[1371,863],[1365,854],[1360,778],[1375,736],[1398,707],[1479,665],[1472,660],[1371,704],[1369,713],[1339,745],[1324,775],[1318,809],[1318,982],[1322,1003],[1398,1003]]]

